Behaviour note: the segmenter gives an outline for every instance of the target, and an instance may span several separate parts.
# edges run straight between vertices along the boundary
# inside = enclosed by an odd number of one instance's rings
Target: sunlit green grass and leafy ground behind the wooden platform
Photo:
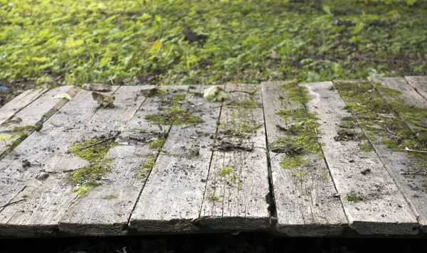
[[[372,75],[427,75],[427,1],[0,0],[3,103],[29,87],[85,82]]]

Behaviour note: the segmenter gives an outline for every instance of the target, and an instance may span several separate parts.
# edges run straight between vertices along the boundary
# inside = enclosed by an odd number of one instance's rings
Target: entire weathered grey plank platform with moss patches
[[[0,237],[425,235],[426,80],[27,90],[0,108]]]

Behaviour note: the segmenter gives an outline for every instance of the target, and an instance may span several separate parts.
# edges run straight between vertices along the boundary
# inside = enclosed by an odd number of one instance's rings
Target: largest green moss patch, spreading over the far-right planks
[[[404,151],[406,148],[427,150],[427,129],[424,127],[427,109],[400,102],[398,96],[401,92],[375,82],[335,82],[334,85],[347,103],[346,109],[354,115],[371,141],[379,139],[380,143],[394,151]],[[367,144],[360,147],[371,150]],[[409,156],[427,167],[427,154],[410,152]]]

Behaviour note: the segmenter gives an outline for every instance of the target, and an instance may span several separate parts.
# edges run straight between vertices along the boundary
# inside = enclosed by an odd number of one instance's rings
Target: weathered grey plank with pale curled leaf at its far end
[[[203,92],[208,86],[198,86]],[[191,90],[190,90],[191,91]],[[199,231],[199,218],[220,107],[203,97],[186,95],[183,109],[204,120],[196,125],[174,125],[149,174],[130,217],[129,227],[139,232],[187,233]],[[206,133],[206,134],[204,134]],[[198,151],[198,152],[196,152]]]

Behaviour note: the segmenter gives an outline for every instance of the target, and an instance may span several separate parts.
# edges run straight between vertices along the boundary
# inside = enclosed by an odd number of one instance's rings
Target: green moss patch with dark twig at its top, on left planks
[[[109,149],[118,145],[112,141],[102,142],[102,139],[95,138],[76,143],[68,149],[71,154],[90,162],[89,166],[73,171],[66,178],[67,183],[75,187],[73,192],[85,196],[88,195],[90,189],[100,185],[98,181],[112,169],[110,163],[113,159],[104,157]]]

